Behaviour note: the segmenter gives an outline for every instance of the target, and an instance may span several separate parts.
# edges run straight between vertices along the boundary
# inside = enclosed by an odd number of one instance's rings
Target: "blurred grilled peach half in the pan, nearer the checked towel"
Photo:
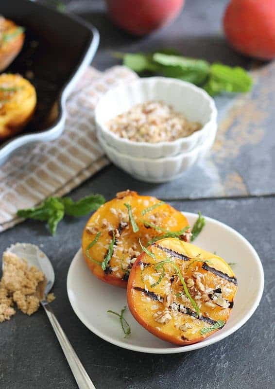
[[[0,75],[0,141],[23,129],[36,106],[34,86],[19,74]]]

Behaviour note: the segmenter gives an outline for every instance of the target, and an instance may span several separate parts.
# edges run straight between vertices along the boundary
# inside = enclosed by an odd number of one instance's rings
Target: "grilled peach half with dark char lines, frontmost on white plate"
[[[160,339],[196,343],[224,326],[237,280],[220,257],[175,238],[147,247],[131,270],[128,306]]]

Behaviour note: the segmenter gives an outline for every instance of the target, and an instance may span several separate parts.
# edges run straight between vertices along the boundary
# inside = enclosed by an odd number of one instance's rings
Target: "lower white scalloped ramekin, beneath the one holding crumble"
[[[108,158],[131,176],[146,182],[167,182],[180,177],[206,155],[215,141],[216,132],[217,126],[213,126],[206,141],[203,141],[192,150],[176,156],[157,159],[122,154],[109,145],[100,134],[98,134],[98,139]]]

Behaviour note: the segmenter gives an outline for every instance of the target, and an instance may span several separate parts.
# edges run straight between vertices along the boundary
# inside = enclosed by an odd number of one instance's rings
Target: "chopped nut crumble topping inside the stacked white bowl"
[[[202,128],[182,113],[161,101],[137,104],[107,122],[107,127],[120,138],[136,142],[175,141]]]

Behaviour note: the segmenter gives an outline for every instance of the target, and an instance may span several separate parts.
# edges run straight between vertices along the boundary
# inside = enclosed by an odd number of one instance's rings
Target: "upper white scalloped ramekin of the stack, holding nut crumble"
[[[188,137],[158,143],[129,141],[107,128],[106,122],[109,119],[136,104],[152,100],[171,105],[190,121],[199,122],[203,127]],[[175,156],[206,141],[209,130],[217,125],[217,109],[214,100],[203,89],[189,82],[166,77],[149,77],[122,84],[106,92],[96,106],[95,121],[98,134],[120,153],[155,159]]]

